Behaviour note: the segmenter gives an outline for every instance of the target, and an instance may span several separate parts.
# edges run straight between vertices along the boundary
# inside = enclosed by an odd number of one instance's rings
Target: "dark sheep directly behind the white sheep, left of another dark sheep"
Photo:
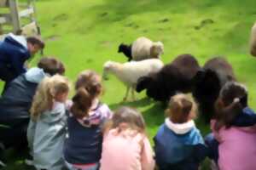
[[[146,89],[148,97],[166,102],[177,92],[191,92],[192,79],[199,70],[200,65],[194,56],[178,55],[172,63],[165,65],[159,72],[139,78],[137,92]]]

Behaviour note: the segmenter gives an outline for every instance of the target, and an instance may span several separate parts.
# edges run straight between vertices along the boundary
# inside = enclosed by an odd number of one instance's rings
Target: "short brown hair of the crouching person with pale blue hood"
[[[55,74],[63,75],[65,73],[65,67],[62,62],[53,57],[44,57],[39,60],[38,68],[44,70],[45,73],[48,73],[50,76]]]

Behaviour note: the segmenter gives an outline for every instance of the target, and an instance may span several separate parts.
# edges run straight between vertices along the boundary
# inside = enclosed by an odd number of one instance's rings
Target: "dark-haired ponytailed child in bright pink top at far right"
[[[248,115],[248,111],[247,89],[238,82],[227,82],[220,91],[215,120],[211,124],[214,138],[218,140],[221,170],[256,169],[256,126],[234,126],[239,116]]]

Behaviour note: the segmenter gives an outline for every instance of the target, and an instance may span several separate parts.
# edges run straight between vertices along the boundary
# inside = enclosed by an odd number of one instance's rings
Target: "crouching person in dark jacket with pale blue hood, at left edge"
[[[46,76],[65,71],[61,61],[54,58],[40,59],[38,67],[28,70],[9,83],[0,98],[0,143],[5,148],[26,146],[26,129],[29,110],[38,83]]]

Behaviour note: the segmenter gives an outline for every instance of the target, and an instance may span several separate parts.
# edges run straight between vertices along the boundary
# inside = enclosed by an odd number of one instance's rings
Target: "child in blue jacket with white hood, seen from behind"
[[[169,102],[168,117],[154,137],[155,160],[160,170],[194,170],[207,155],[200,131],[195,127],[196,106],[185,94]]]

